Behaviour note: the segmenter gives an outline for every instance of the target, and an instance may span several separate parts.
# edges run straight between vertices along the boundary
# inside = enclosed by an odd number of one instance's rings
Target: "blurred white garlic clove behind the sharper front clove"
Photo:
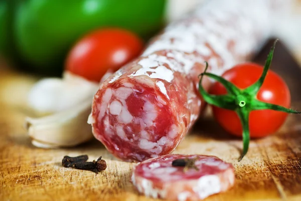
[[[60,112],[94,95],[97,89],[98,83],[66,71],[63,79],[44,78],[38,81],[29,92],[28,105],[41,115]]]

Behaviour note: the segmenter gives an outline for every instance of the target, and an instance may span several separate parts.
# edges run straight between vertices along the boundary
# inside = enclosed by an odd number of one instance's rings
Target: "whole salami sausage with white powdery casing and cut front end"
[[[126,161],[173,151],[205,105],[198,92],[204,61],[221,74],[248,59],[267,37],[270,1],[209,0],[167,26],[101,83],[88,119],[94,136]]]

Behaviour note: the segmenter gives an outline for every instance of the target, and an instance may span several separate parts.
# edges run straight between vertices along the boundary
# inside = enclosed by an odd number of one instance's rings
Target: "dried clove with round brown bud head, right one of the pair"
[[[98,173],[99,171],[105,170],[107,165],[105,160],[101,159],[101,156],[95,161],[92,162],[77,162],[73,165],[76,169],[84,169],[94,171]]]

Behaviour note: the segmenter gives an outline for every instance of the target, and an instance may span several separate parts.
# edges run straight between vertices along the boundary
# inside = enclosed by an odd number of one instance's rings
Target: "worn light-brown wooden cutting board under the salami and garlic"
[[[270,46],[271,42],[255,60],[263,64]],[[288,83],[292,108],[301,110],[301,68],[281,43],[276,46],[272,69]],[[4,80],[10,77],[16,83],[26,76],[2,71],[0,86],[13,88],[4,86]],[[26,83],[29,82],[33,79],[28,78]],[[26,84],[22,87],[28,89]],[[22,91],[25,89],[12,89],[9,93],[16,95]],[[23,128],[22,98],[14,98],[14,104],[13,100],[4,101],[5,98],[0,100],[0,200],[155,200],[139,195],[131,184],[134,163],[117,160],[97,140],[73,148],[33,146]],[[301,200],[301,115],[289,115],[274,135],[252,140],[248,154],[238,162],[241,146],[241,139],[222,130],[208,112],[174,152],[213,154],[233,163],[234,187],[210,196],[207,201]],[[64,155],[80,154],[88,154],[90,160],[102,155],[107,169],[95,174],[62,166]]]

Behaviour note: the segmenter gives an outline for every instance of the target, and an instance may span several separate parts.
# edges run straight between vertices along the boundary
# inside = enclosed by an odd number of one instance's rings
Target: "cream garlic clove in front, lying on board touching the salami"
[[[40,118],[26,118],[32,143],[43,148],[75,146],[93,137],[87,123],[93,96],[70,109]]]

